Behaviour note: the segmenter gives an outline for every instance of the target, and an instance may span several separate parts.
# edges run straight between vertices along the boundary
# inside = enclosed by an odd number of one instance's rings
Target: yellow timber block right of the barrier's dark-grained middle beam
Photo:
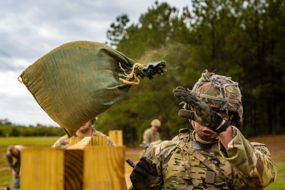
[[[125,189],[125,147],[92,146],[84,151],[83,189]]]

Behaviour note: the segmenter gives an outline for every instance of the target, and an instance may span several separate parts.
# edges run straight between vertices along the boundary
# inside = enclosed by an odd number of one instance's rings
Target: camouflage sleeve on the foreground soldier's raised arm
[[[264,144],[251,144],[234,126],[234,138],[228,150],[219,142],[220,153],[239,176],[239,182],[250,189],[263,189],[276,179],[277,167]]]

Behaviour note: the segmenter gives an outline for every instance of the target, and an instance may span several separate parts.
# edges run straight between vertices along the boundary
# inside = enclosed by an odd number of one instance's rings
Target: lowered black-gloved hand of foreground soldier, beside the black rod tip
[[[157,176],[156,164],[145,156],[137,163],[130,175],[135,190],[147,190]]]

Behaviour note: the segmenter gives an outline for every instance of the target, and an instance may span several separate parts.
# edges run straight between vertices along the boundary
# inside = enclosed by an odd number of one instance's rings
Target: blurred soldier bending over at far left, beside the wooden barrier
[[[21,151],[25,148],[22,145],[9,145],[6,152],[6,157],[9,162],[13,175],[13,189],[20,188],[21,175]]]

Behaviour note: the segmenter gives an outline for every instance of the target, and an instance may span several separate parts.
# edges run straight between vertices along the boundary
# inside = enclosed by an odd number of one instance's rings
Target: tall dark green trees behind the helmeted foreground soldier
[[[114,107],[99,115],[98,129],[123,130],[129,144],[141,143],[152,119],[162,121],[169,140],[180,128],[182,107],[172,90],[192,89],[203,70],[232,77],[241,89],[246,137],[282,133],[285,122],[284,0],[192,0],[182,11],[157,1],[129,23],[119,15],[106,42],[138,63],[166,61],[166,72],[151,83],[142,80]]]

